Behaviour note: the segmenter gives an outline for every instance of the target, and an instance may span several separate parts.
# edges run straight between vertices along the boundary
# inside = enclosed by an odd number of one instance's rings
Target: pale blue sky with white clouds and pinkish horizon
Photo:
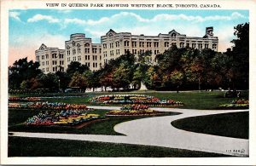
[[[9,65],[25,57],[35,60],[42,43],[64,49],[73,33],[100,43],[109,29],[154,36],[174,29],[187,37],[203,37],[206,27],[213,26],[218,51],[224,52],[232,46],[234,26],[248,21],[248,10],[15,9],[9,11]]]

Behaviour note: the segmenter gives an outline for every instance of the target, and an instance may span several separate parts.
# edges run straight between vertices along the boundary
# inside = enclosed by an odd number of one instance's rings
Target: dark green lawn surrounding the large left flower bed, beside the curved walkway
[[[104,116],[106,110],[90,111],[91,113]],[[91,135],[121,135],[113,130],[113,127],[122,122],[144,118],[149,116],[138,117],[107,117],[102,121],[90,123],[80,129],[67,126],[27,126],[23,125],[28,117],[38,114],[38,111],[32,110],[9,110],[9,131],[23,131],[23,132],[39,132],[39,133],[71,133],[71,134],[91,134]],[[177,112],[164,112],[164,115],[177,115]],[[151,116],[152,117],[152,116]]]

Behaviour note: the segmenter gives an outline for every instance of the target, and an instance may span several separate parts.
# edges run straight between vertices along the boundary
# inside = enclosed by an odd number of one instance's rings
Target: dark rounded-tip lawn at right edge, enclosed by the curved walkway
[[[249,112],[187,117],[172,122],[177,129],[197,133],[248,139]]]

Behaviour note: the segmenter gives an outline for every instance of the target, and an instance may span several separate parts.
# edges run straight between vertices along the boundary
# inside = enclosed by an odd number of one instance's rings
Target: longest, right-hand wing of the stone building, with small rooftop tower
[[[213,49],[218,51],[218,37],[213,37],[213,27],[207,27],[204,37],[186,37],[175,30],[168,34],[158,36],[132,35],[130,32],[115,32],[112,29],[105,36],[101,37],[103,63],[115,59],[121,54],[130,51],[131,54],[142,54],[151,52],[148,62],[157,63],[156,54],[162,54],[172,45],[177,48],[190,47],[195,49]]]

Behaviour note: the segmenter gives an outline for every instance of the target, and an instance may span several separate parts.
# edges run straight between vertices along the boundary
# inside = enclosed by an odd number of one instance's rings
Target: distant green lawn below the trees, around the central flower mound
[[[182,101],[184,106],[179,106],[181,108],[187,109],[200,109],[200,110],[211,110],[211,109],[218,109],[219,105],[228,104],[230,101],[235,100],[236,98],[224,98],[224,93],[221,91],[213,91],[213,92],[180,92],[180,93],[173,93],[173,92],[157,92],[157,91],[147,91],[147,92],[96,92],[96,93],[85,93],[85,94],[77,94],[80,97],[68,97],[68,98],[60,98],[60,97],[53,97],[53,96],[63,96],[64,94],[49,94],[51,98],[46,98],[49,102],[65,102],[65,103],[74,103],[74,104],[86,104],[86,105],[96,105],[90,103],[91,97],[96,95],[102,94],[148,94],[153,95],[155,97],[160,98],[161,100],[172,99]],[[38,95],[38,94],[37,94]],[[44,96],[47,94],[44,94]],[[66,94],[71,95],[73,94]],[[23,94],[24,96],[24,94]],[[248,99],[248,91],[241,92],[242,99]],[[102,105],[105,106],[105,105]]]

